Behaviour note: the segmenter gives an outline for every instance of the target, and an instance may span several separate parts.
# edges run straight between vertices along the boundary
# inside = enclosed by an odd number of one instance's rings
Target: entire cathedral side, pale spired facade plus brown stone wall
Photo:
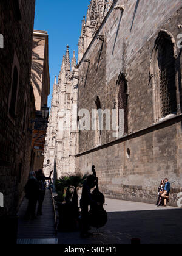
[[[170,205],[177,205],[182,191],[181,17],[181,0],[90,1],[78,65],[73,58],[70,70],[67,50],[53,88],[46,157],[59,174],[90,172],[95,165],[107,197],[151,203],[161,179],[168,177]],[[59,134],[62,110],[71,109],[74,93],[78,115],[83,109],[90,116],[93,110],[116,110],[117,115],[122,110],[122,118],[115,119],[122,134],[106,129],[108,116],[104,130]]]

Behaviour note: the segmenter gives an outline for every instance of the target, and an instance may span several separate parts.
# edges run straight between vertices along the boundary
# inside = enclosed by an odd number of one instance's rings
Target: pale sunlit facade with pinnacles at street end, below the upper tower
[[[70,63],[69,46],[67,46],[58,82],[55,77],[53,85],[49,126],[45,138],[44,171],[48,175],[50,170],[54,169],[55,178],[75,172],[78,132],[74,116],[77,119],[77,97],[78,71],[75,52]]]

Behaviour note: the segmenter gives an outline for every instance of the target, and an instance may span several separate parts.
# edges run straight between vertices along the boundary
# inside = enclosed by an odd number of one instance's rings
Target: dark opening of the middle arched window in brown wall
[[[124,134],[128,133],[128,90],[127,90],[127,82],[124,77],[121,77],[119,83],[119,94],[118,94],[118,124],[119,126],[123,124],[120,116],[119,110],[124,110]],[[122,130],[122,127],[120,127]]]

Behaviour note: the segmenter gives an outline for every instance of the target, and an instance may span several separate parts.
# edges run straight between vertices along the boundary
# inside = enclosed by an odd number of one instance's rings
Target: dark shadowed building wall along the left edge
[[[4,49],[0,51],[0,190],[4,193],[1,214],[16,214],[30,171],[35,102],[30,85],[35,1],[1,1],[0,27]],[[18,12],[19,10],[19,12]],[[18,67],[15,116],[10,115],[13,67]],[[27,102],[27,112],[24,107]],[[23,123],[25,120],[25,129]],[[28,130],[29,129],[29,130]]]

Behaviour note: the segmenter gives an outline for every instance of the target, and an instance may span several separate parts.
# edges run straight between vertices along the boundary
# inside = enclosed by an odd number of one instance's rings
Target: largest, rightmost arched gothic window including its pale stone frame
[[[170,33],[161,31],[152,56],[154,121],[177,113],[175,43]]]

